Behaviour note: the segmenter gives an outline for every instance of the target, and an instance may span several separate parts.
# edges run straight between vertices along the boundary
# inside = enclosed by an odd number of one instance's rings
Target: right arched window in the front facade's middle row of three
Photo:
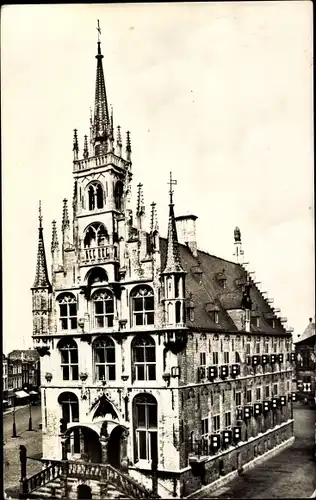
[[[156,380],[156,346],[152,337],[135,337],[132,341],[134,380]]]

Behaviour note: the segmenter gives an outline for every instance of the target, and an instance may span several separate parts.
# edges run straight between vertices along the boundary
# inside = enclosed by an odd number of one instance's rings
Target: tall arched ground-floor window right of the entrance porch
[[[134,453],[138,460],[158,460],[157,402],[151,394],[138,394],[133,401]]]

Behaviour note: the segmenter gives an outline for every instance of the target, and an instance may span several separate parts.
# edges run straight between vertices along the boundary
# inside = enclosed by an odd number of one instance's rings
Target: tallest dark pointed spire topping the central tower
[[[96,83],[95,83],[95,100],[94,100],[94,118],[93,118],[93,140],[94,142],[97,140],[105,140],[108,134],[108,128],[110,126],[109,119],[109,109],[108,102],[106,97],[106,88],[105,88],[105,80],[103,73],[103,65],[102,59],[103,55],[101,54],[101,42],[100,42],[100,25],[98,20],[98,53],[95,56],[97,60],[97,74],[96,74]]]

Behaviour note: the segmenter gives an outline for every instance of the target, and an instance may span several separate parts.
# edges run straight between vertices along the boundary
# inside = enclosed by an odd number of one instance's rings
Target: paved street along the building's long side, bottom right
[[[316,411],[294,410],[295,442],[291,448],[245,472],[218,490],[200,498],[308,498],[316,489],[312,460]],[[196,497],[198,498],[198,496]]]

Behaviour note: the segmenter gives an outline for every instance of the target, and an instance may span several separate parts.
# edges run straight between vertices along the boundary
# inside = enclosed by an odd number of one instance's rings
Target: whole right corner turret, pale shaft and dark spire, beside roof
[[[167,256],[162,276],[165,290],[165,324],[166,326],[172,327],[183,326],[185,322],[186,272],[183,270],[181,264],[176,221],[173,210],[174,204],[172,186],[176,183],[177,181],[172,179],[172,173],[170,172]]]

